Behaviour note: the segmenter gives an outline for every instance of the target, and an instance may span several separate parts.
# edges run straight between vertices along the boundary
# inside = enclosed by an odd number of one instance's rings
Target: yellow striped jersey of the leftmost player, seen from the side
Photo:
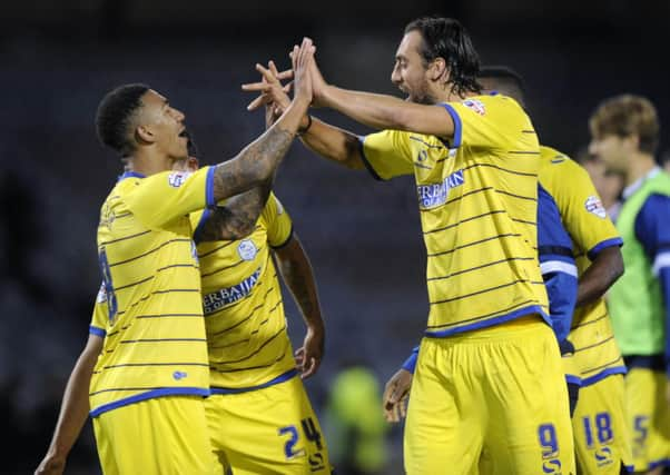
[[[208,395],[200,274],[188,215],[214,206],[214,168],[122,175],[100,211],[108,323],[91,416],[174,394]]]

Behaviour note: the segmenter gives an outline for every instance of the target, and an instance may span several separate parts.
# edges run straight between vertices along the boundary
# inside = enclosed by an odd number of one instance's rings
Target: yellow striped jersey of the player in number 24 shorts
[[[191,215],[196,229],[209,212]],[[249,390],[296,374],[270,254],[290,236],[290,217],[270,194],[248,237],[197,245],[213,394]]]

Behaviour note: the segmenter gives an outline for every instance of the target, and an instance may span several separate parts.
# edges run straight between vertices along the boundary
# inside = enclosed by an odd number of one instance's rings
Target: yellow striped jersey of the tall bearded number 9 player
[[[397,130],[362,138],[375,177],[413,174],[416,180],[427,250],[426,335],[529,314],[548,320],[536,254],[540,151],[533,125],[501,95],[442,106],[455,125],[451,144]]]

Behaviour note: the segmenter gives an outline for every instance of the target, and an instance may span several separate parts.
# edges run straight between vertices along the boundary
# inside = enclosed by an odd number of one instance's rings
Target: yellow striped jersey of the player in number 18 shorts
[[[559,207],[563,226],[573,241],[578,275],[582,276],[599,251],[620,246],[622,240],[587,170],[552,148],[541,147],[540,151],[540,182]],[[568,338],[575,348],[573,366],[579,375],[574,376],[582,385],[625,373],[604,298],[575,308]]]

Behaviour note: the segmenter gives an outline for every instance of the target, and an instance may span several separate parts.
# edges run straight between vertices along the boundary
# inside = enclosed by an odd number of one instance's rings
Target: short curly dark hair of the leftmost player
[[[122,85],[105,95],[96,112],[96,131],[102,145],[121,156],[135,150],[135,145],[129,140],[129,127],[132,117],[142,106],[141,97],[149,89],[141,83]]]

